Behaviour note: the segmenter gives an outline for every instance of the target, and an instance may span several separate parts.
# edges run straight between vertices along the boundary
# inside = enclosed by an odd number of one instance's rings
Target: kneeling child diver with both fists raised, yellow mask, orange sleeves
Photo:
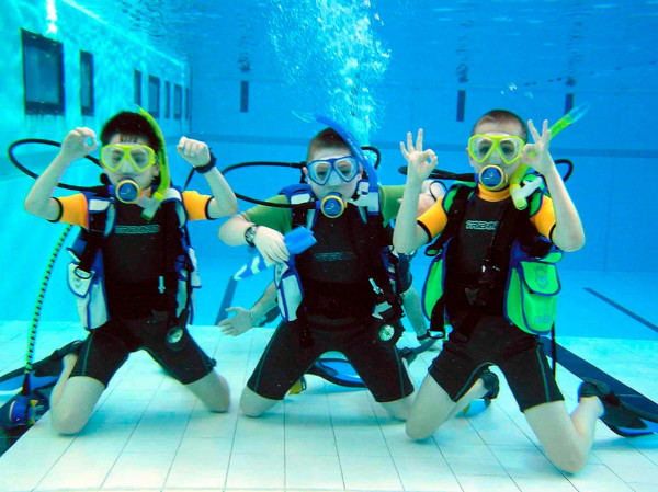
[[[196,272],[185,220],[234,214],[237,199],[207,145],[186,137],[177,150],[204,175],[213,196],[170,186],[162,134],[144,111],[113,116],[100,139],[104,186],[53,197],[68,165],[98,146],[92,129],[78,127],[25,199],[33,215],[83,228],[69,286],[89,335],[64,357],[50,396],[53,426],[63,434],[80,431],[113,375],[138,350],[212,411],[224,412],[228,385],[186,328]]]

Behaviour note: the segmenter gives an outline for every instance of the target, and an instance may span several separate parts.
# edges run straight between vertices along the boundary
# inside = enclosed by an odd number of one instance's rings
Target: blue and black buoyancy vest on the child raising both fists
[[[69,248],[68,285],[76,296],[82,325],[92,330],[110,318],[103,247],[116,227],[116,204],[106,187],[83,192],[87,198],[89,228],[82,228]],[[190,244],[188,216],[182,192],[170,187],[161,210],[154,221],[162,227],[161,266],[152,275],[158,279],[158,291],[170,319],[191,322],[194,312],[193,289],[201,287],[196,256]],[[129,252],[126,252],[129,254]]]

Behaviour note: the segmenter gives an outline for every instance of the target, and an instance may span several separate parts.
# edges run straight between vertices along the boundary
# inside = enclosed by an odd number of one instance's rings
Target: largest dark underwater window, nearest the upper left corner
[[[21,30],[25,114],[64,114],[64,46]]]

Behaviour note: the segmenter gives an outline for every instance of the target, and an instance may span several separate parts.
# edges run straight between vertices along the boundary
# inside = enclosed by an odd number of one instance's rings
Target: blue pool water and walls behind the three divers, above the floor
[[[134,70],[143,73],[143,105],[149,75],[189,90],[190,115],[166,116],[174,181],[186,164],[173,146],[181,135],[207,141],[219,165],[305,158],[321,127],[299,115],[321,113],[340,121],[363,142],[382,150],[379,181],[404,183],[398,142],[426,129],[440,168],[468,171],[465,141],[473,122],[492,107],[555,122],[571,105],[589,113],[553,144],[556,158],[574,160],[569,192],[581,215],[587,244],[567,255],[564,271],[650,274],[658,271],[650,192],[658,148],[658,2],[317,0],[222,2],[183,0],[120,2],[11,0],[0,20],[9,76],[8,104],[0,108],[0,144],[16,138],[61,140],[70,128],[97,130],[114,112],[134,108]],[[162,26],[166,25],[167,28]],[[20,30],[64,45],[66,111],[60,116],[23,114]],[[121,50],[117,50],[117,46]],[[80,116],[78,50],[94,56],[95,113]],[[246,83],[248,91],[246,92]],[[461,95],[460,95],[461,94]],[[184,95],[183,95],[184,96]],[[460,103],[462,101],[462,103]],[[173,104],[173,103],[170,103]],[[171,108],[171,107],[170,107]],[[37,172],[52,158],[23,149]],[[5,319],[29,319],[52,248],[61,231],[27,216],[22,201],[32,180],[3,159],[2,299]],[[79,164],[66,179],[95,182],[98,170]],[[294,171],[254,169],[227,175],[239,193],[265,198],[296,182]],[[648,183],[647,183],[648,184]],[[192,187],[207,191],[202,179]],[[240,208],[249,204],[241,202]],[[196,321],[212,323],[226,279],[248,260],[245,249],[217,239],[219,221],[193,224],[204,287]],[[11,239],[10,239],[11,238]],[[59,259],[42,317],[75,320]],[[427,260],[413,264],[421,287]],[[264,274],[269,275],[269,274]],[[238,289],[237,301],[256,300],[268,278]],[[258,285],[256,285],[258,284]]]

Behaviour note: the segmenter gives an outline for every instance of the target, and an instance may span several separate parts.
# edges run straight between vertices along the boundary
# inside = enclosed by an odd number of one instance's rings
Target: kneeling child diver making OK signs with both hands
[[[635,415],[597,381],[581,386],[579,405],[569,415],[537,336],[551,328],[554,305],[529,301],[520,309],[519,272],[545,289],[551,302],[559,290],[553,263],[561,253],[555,248],[577,251],[585,243],[580,218],[548,152],[547,123],[541,135],[532,122],[527,126],[534,144],[526,144],[527,127],[515,114],[495,110],[481,116],[467,147],[477,187],[456,183],[418,220],[420,184],[438,160],[431,149],[423,150],[422,130],[416,142],[408,134],[406,146],[400,144],[408,174],[394,245],[413,251],[440,238],[430,249],[440,255],[435,271],[441,275],[428,278],[426,288],[434,291],[432,318],[442,323],[445,314],[453,327],[418,391],[407,434],[422,439],[490,392],[498,384],[486,368],[496,364],[548,458],[575,472],[587,462],[597,419],[626,426]],[[549,196],[535,193],[521,211],[512,205],[509,183],[523,164],[543,176]]]

